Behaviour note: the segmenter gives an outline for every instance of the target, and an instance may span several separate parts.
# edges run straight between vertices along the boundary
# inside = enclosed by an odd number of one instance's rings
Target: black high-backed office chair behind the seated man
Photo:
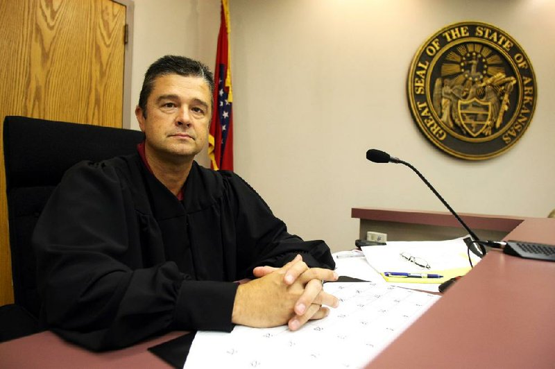
[[[6,117],[3,148],[15,304],[0,307],[0,341],[41,330],[31,235],[62,175],[81,160],[134,153],[143,139],[136,130]]]

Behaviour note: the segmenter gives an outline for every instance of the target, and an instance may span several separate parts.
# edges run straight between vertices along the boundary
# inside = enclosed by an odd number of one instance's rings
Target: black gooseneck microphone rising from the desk
[[[412,169],[414,171],[414,173],[418,174],[418,177],[420,177],[420,179],[422,181],[424,181],[424,183],[427,185],[427,187],[429,189],[431,189],[432,192],[434,192],[434,194],[437,196],[437,198],[439,200],[441,200],[441,203],[443,203],[443,205],[445,205],[445,207],[447,207],[447,209],[449,209],[451,214],[454,215],[456,220],[459,221],[459,223],[461,223],[461,225],[466,230],[466,232],[468,232],[468,234],[470,234],[470,237],[472,237],[473,241],[470,241],[470,243],[466,243],[466,245],[478,257],[484,257],[484,255],[486,255],[486,248],[484,248],[483,244],[486,244],[486,245],[492,246],[492,247],[497,247],[497,248],[500,247],[500,244],[497,243],[497,242],[494,242],[494,241],[481,241],[477,237],[477,235],[474,232],[472,232],[470,227],[468,227],[468,225],[466,225],[466,223],[464,223],[464,221],[461,219],[459,214],[456,214],[456,212],[453,210],[453,208],[450,207],[449,204],[447,204],[447,201],[445,201],[443,199],[443,197],[441,197],[441,195],[438,193],[438,191],[436,191],[436,189],[434,189],[434,186],[432,186],[432,184],[430,184],[430,182],[428,182],[428,180],[424,177],[424,175],[422,175],[422,173],[420,173],[420,171],[418,171],[418,169],[416,169],[411,164],[409,164],[407,162],[404,162],[403,160],[400,160],[398,157],[393,157],[393,156],[389,155],[388,153],[385,153],[384,151],[381,151],[381,150],[377,150],[375,148],[370,148],[370,150],[366,151],[366,159],[370,160],[370,162],[375,162],[375,163],[404,164],[404,165],[408,166],[410,169]],[[475,248],[470,246],[470,245],[472,245],[472,243],[477,243],[481,254],[480,254],[480,252],[475,250]]]

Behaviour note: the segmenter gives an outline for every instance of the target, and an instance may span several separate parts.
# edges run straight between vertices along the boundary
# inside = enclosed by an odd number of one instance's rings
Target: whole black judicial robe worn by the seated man
[[[41,319],[92,350],[171,329],[230,331],[237,283],[300,253],[334,268],[323,241],[287,232],[238,175],[193,162],[183,200],[138,154],[67,171],[33,233]]]

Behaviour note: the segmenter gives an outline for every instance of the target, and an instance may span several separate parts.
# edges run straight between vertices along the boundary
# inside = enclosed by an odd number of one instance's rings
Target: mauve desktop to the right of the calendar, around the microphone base
[[[505,240],[555,244],[555,219]],[[367,368],[555,368],[555,263],[493,250]]]

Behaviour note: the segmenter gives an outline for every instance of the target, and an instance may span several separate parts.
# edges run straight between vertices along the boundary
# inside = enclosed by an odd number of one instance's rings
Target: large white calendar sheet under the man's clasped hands
[[[185,368],[363,368],[440,297],[373,282],[326,283],[330,315],[287,326],[199,331]]]

